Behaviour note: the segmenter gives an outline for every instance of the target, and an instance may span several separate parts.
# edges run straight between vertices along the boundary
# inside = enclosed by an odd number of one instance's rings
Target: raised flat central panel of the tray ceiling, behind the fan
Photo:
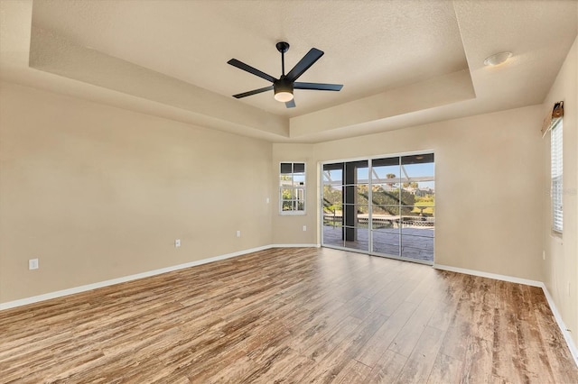
[[[323,50],[300,81],[341,83],[340,93],[295,91],[294,109],[272,92],[241,101],[291,116],[467,68],[451,2],[42,0],[33,25],[223,96],[270,85],[228,59],[278,78],[277,41],[291,44],[287,69]]]

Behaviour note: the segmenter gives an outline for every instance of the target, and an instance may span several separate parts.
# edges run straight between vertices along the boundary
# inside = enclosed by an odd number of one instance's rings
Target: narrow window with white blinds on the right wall
[[[562,234],[563,214],[562,214],[562,196],[563,196],[563,168],[562,168],[562,119],[559,119],[552,127],[550,136],[550,153],[551,153],[551,179],[552,179],[552,230],[555,233]]]

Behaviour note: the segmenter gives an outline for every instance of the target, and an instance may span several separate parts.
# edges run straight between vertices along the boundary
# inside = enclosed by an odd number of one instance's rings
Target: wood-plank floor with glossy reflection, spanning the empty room
[[[0,312],[0,382],[578,383],[540,288],[274,249]]]

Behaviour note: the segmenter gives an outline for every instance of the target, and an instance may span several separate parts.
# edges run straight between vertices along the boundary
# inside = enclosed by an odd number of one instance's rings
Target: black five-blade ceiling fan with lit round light
[[[277,50],[281,52],[281,78],[274,78],[271,75],[267,75],[265,72],[255,69],[238,59],[230,59],[227,61],[228,64],[238,69],[243,69],[248,73],[252,73],[259,78],[265,78],[266,80],[273,83],[272,86],[253,89],[252,91],[244,92],[242,94],[233,95],[233,97],[241,98],[260,94],[262,92],[270,91],[273,89],[275,93],[275,100],[280,101],[285,104],[287,108],[294,108],[295,100],[293,97],[294,89],[312,89],[318,91],[339,91],[342,84],[322,84],[322,83],[301,83],[297,82],[297,78],[303,75],[307,69],[309,69],[315,61],[323,56],[323,51],[316,48],[312,48],[307,52],[303,59],[301,59],[293,69],[285,75],[285,57],[284,54],[289,50],[289,43],[285,41],[279,41],[275,45]]]

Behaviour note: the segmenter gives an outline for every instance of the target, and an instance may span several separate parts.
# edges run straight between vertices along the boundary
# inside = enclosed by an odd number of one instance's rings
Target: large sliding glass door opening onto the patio
[[[433,153],[322,165],[322,245],[433,263]]]

